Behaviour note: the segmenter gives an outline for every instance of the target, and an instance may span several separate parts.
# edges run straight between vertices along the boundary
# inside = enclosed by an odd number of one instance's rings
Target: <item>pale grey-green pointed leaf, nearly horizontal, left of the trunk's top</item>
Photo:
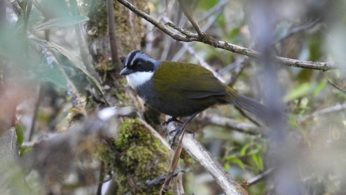
[[[53,18],[39,25],[36,28],[35,32],[52,29],[52,28],[70,26],[70,25],[78,24],[80,22],[84,22],[86,20],[89,20],[89,18],[86,16],[66,16],[66,17]]]

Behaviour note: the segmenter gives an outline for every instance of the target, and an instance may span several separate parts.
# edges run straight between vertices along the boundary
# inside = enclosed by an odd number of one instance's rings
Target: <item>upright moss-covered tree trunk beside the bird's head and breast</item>
[[[146,0],[133,0],[132,3],[146,10]],[[139,50],[145,43],[145,28],[140,17],[117,1],[114,1],[114,14],[118,56],[126,57],[127,53]],[[126,87],[126,79],[119,76],[122,66],[115,67],[111,63],[105,1],[92,1],[89,18],[89,50],[95,69],[102,77],[103,86],[110,86],[106,92],[108,99],[112,105],[121,101],[143,108],[142,101]],[[148,185],[146,181],[167,173],[171,159],[169,149],[151,134],[141,120],[124,119],[118,132],[119,137],[111,139],[105,147],[100,147],[105,171],[113,171],[112,189],[108,193],[158,194],[162,184]]]

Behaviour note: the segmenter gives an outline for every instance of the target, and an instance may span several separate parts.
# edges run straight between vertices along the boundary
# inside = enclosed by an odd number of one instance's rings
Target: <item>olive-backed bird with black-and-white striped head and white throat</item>
[[[126,75],[128,84],[149,107],[171,116],[166,123],[189,117],[173,141],[198,113],[215,104],[234,104],[260,118],[271,112],[270,107],[238,94],[200,65],[161,61],[140,50],[127,55],[120,75]]]

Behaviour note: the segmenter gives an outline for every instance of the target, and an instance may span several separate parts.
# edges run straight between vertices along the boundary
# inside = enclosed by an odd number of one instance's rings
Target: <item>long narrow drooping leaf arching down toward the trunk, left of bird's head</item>
[[[89,77],[89,80],[91,82],[91,84],[93,85],[93,87],[95,87],[95,89],[102,95],[104,101],[106,101],[106,103],[109,105],[108,100],[106,99],[106,97],[104,96],[104,93],[102,91],[101,85],[97,82],[97,80],[95,79],[94,76],[92,76],[88,70],[86,70],[85,66],[83,65],[83,63],[76,57],[74,56],[71,52],[69,52],[68,50],[66,50],[65,48],[43,40],[43,39],[37,39],[37,38],[30,38],[29,39],[32,43],[42,46],[42,47],[50,47],[50,48],[54,48],[56,49],[58,52],[62,53],[64,56],[66,56],[69,60],[71,60],[74,65],[79,68],[80,70],[83,71],[83,73]]]

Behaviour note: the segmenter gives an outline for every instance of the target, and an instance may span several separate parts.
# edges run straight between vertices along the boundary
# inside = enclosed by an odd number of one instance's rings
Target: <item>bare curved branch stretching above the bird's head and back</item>
[[[168,29],[164,24],[157,21],[153,17],[149,16],[142,10],[138,9],[134,5],[132,5],[127,0],[117,0],[125,7],[129,8],[131,11],[135,12],[135,14],[139,15],[140,17],[144,18],[148,22],[152,23],[154,26],[156,26],[158,29],[166,33],[167,35],[171,36],[173,39],[177,41],[183,41],[183,42],[191,42],[191,41],[198,41],[202,42],[208,45],[212,45],[215,48],[225,49],[231,52],[240,53],[245,56],[249,56],[252,58],[258,59],[261,56],[261,53],[255,50],[251,50],[248,48],[244,48],[242,46],[238,46],[235,44],[228,43],[226,41],[219,41],[212,36],[203,33],[203,36],[199,36],[198,34],[194,34],[191,32],[187,32],[186,29],[181,29],[179,27],[174,27],[174,29],[179,29],[180,32],[184,32],[183,35],[177,34],[170,29]],[[172,27],[172,25],[170,24]],[[322,70],[327,71],[331,69],[337,69],[338,66],[335,64],[335,62],[312,62],[312,61],[302,61],[302,60],[296,60],[296,59],[290,59],[290,58],[284,58],[275,56],[275,61],[277,63],[280,63],[282,65],[286,66],[293,66],[293,67],[299,67],[299,68],[308,68],[308,69],[315,69],[315,70]]]

